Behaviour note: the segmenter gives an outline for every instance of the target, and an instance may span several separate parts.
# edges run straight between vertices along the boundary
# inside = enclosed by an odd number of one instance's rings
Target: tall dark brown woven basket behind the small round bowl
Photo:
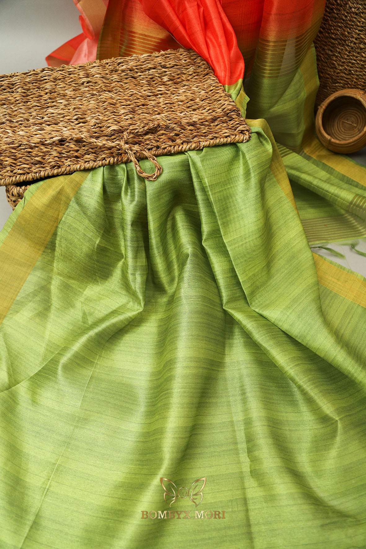
[[[346,88],[366,90],[366,0],[326,0],[314,40],[317,52],[318,107]]]

